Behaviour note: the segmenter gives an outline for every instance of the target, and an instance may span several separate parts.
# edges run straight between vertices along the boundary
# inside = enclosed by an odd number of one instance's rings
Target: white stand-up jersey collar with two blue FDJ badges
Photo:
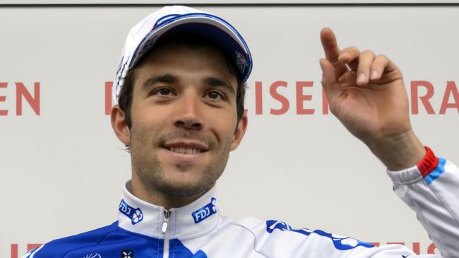
[[[153,238],[164,238],[161,232],[165,222],[165,209],[138,199],[129,191],[131,181],[124,185],[123,197],[118,209],[120,228]],[[169,239],[198,238],[213,230],[218,223],[215,186],[191,204],[169,209]]]

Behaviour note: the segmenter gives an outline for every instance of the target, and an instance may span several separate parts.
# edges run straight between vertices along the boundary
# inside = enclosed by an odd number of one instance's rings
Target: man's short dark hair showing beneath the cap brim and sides
[[[237,93],[236,93],[236,110],[237,110],[237,120],[241,119],[242,115],[244,114],[244,98],[246,95],[246,83],[244,83],[241,79],[241,75],[237,72],[237,66],[232,61],[232,58],[229,57],[229,54],[222,51],[220,47],[215,44],[212,40],[203,37],[197,33],[191,32],[176,32],[170,33],[166,36],[161,37],[160,40],[155,44],[153,49],[157,49],[163,45],[167,44],[177,44],[177,45],[184,45],[186,47],[190,47],[191,49],[198,49],[200,47],[212,47],[215,49],[219,49],[220,52],[225,57],[225,61],[229,68],[231,74],[233,74],[237,79]],[[132,105],[132,97],[133,97],[133,88],[134,82],[136,81],[136,69],[141,66],[145,57],[148,56],[150,52],[153,51],[150,49],[146,54],[143,55],[141,60],[137,62],[131,69],[129,69],[128,74],[124,78],[123,88],[121,88],[121,93],[119,94],[118,104],[121,110],[124,111],[126,115],[126,124],[129,128],[131,128],[131,105]]]

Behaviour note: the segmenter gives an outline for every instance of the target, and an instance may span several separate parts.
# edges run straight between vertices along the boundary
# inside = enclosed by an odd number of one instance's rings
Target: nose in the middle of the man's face
[[[177,103],[174,126],[187,130],[201,130],[203,127],[199,98],[188,93]]]

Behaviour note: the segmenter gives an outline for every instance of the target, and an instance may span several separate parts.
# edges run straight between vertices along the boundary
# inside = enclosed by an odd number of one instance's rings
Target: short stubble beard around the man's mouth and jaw
[[[169,178],[167,171],[163,168],[160,158],[155,148],[160,148],[166,141],[173,139],[196,139],[207,143],[210,151],[215,151],[218,146],[215,137],[198,136],[186,131],[179,131],[172,134],[158,135],[153,141],[148,141],[145,136],[138,134],[136,129],[131,128],[131,163],[133,170],[141,180],[149,194],[163,194],[169,197],[191,197],[203,193],[213,186],[215,181],[222,175],[229,157],[230,140],[222,143],[218,153],[214,154],[213,160],[206,164],[199,178],[193,182],[177,182]],[[208,155],[208,154],[204,154]],[[177,163],[175,169],[181,172],[187,171],[191,164]]]

